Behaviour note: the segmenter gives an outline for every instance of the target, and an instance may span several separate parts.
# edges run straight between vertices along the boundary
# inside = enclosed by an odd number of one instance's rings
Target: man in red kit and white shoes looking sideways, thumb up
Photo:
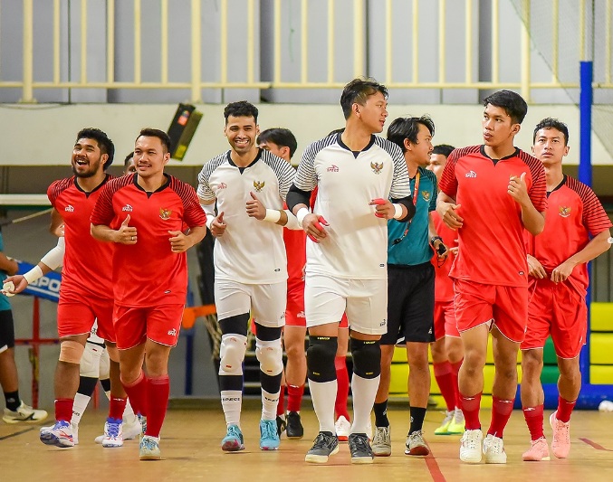
[[[517,392],[517,352],[528,316],[528,264],[522,233],[540,233],[547,208],[538,159],[513,146],[528,111],[510,90],[484,99],[483,146],[455,149],[441,177],[436,210],[457,230],[455,318],[465,347],[458,374],[465,434],[460,459],[482,458],[479,409],[488,332],[492,331],[492,421],[483,440],[485,463],[506,463],[503,430]]]

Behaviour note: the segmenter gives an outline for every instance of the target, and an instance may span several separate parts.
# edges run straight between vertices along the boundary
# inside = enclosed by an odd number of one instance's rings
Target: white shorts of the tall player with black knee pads
[[[307,273],[304,313],[307,327],[338,323],[347,313],[353,331],[383,335],[388,331],[388,279],[340,279]]]

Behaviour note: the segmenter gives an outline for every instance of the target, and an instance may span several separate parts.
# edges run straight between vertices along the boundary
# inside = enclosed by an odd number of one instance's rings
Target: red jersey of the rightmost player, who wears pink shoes
[[[528,253],[541,262],[551,277],[554,268],[585,248],[591,237],[608,230],[611,222],[596,194],[567,175],[548,194],[548,203],[545,229],[538,236],[524,232],[524,241]],[[585,296],[589,283],[587,263],[573,269],[568,280]]]

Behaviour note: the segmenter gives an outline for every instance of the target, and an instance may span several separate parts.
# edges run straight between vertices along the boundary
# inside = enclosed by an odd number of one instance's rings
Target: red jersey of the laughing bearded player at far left
[[[91,193],[76,184],[75,177],[55,181],[47,189],[51,205],[62,216],[66,250],[62,268],[62,298],[72,294],[112,299],[110,264],[113,247],[94,240],[90,233],[91,212],[112,179],[107,175]]]

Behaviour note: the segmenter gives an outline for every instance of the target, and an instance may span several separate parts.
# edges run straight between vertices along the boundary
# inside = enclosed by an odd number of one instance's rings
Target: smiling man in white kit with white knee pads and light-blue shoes
[[[287,296],[283,225],[291,219],[298,227],[293,215],[283,211],[283,202],[295,172],[292,165],[255,144],[257,115],[257,109],[246,101],[225,107],[225,137],[231,149],[206,162],[198,175],[197,193],[206,212],[206,226],[216,237],[215,302],[222,330],[219,385],[227,425],[222,440],[225,451],[244,449],[240,413],[250,311],[262,383],[260,449],[279,448],[276,408]],[[250,216],[261,204],[269,208],[264,217],[268,222]]]

